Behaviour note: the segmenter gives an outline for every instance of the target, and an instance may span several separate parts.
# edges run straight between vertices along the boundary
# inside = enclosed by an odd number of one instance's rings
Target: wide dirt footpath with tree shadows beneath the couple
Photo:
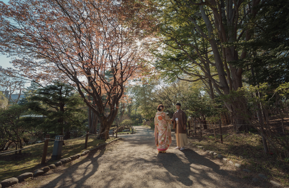
[[[122,140],[92,151],[66,169],[17,187],[266,187],[238,177],[240,170],[196,147],[173,149],[175,138],[167,153],[158,153],[153,131],[141,126],[135,129],[137,134],[119,135]]]

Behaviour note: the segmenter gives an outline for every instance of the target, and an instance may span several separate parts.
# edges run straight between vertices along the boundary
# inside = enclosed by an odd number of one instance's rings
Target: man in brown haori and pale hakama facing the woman
[[[187,126],[187,118],[186,113],[180,109],[181,104],[177,103],[176,108],[177,111],[174,113],[172,121],[174,124],[174,129],[176,133],[177,139],[177,147],[175,149],[183,150],[185,149],[185,145],[188,144],[186,126]]]

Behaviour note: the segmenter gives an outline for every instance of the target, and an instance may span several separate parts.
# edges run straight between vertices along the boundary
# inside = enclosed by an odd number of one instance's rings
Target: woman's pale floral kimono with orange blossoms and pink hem
[[[158,151],[165,151],[172,143],[171,120],[164,112],[155,114],[155,145]]]

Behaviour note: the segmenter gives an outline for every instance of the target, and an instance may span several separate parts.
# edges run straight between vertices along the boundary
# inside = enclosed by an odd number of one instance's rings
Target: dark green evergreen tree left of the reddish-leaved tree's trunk
[[[31,96],[27,97],[28,102],[25,105],[32,113],[44,117],[27,117],[26,126],[38,124],[47,131],[58,132],[59,135],[64,135],[65,131],[65,139],[70,138],[71,128],[83,127],[82,119],[86,117],[84,103],[83,99],[76,95],[75,88],[61,82],[36,88],[32,85],[28,90]]]

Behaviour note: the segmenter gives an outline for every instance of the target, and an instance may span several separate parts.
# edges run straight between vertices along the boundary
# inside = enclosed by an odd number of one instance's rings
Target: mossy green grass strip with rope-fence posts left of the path
[[[108,139],[107,142],[112,139]],[[71,155],[75,155],[77,153],[82,153],[85,150],[91,149],[105,143],[104,140],[97,139],[97,136],[88,137],[87,148],[84,149],[85,136],[75,139],[75,140],[66,140],[64,141],[65,145],[62,147],[62,159],[70,157]],[[1,155],[0,158],[0,181],[4,179],[17,177],[20,174],[25,172],[34,172],[37,169],[42,169],[45,166],[49,166],[50,164],[54,164],[58,160],[51,160],[51,155],[53,151],[54,142],[49,142],[46,164],[41,165],[41,157],[43,151],[44,143],[40,143],[33,147],[22,150],[21,154],[15,155],[15,153],[8,153]],[[28,147],[28,146],[27,146]],[[13,151],[13,149],[9,149],[8,151]],[[3,151],[1,153],[5,153],[8,151]]]

